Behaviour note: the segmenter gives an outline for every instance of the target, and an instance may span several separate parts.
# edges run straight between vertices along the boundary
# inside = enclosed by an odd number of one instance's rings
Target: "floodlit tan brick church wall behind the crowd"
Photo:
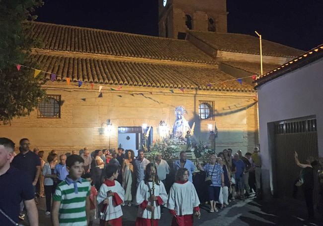
[[[60,83],[62,84],[62,83]],[[130,92],[143,92],[158,100],[158,104],[143,96],[127,95]],[[150,92],[153,92],[151,94]],[[127,88],[120,93],[103,91],[98,98],[97,92],[86,88],[74,89],[66,85],[60,88],[48,86],[48,94],[60,94],[64,104],[61,107],[60,119],[37,118],[37,111],[27,117],[14,119],[11,125],[0,127],[0,136],[8,137],[18,144],[21,138],[30,139],[31,148],[38,147],[43,151],[52,149],[59,153],[79,151],[87,147],[90,150],[117,148],[118,127],[141,126],[147,123],[154,128],[153,140],[160,139],[159,122],[164,120],[171,131],[175,121],[174,108],[182,105],[187,114],[184,117],[192,126],[195,122],[195,136],[198,140],[208,140],[208,124],[217,123],[219,137],[217,151],[224,148],[251,150],[258,144],[257,109],[252,103],[254,93],[217,92],[198,90],[197,93],[187,90],[185,94],[169,93],[161,88]],[[122,94],[120,98],[117,95]],[[85,101],[81,98],[86,98]],[[215,120],[200,120],[198,105],[201,101],[214,101],[219,113]],[[101,126],[105,127],[107,119],[111,120],[112,131],[100,134]]]

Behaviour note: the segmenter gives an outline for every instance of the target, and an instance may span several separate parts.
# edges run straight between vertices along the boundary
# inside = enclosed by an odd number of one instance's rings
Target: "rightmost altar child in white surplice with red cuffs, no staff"
[[[176,179],[168,194],[167,208],[173,216],[171,226],[193,226],[194,215],[200,218],[200,200],[192,182],[188,181],[189,172],[179,168]]]

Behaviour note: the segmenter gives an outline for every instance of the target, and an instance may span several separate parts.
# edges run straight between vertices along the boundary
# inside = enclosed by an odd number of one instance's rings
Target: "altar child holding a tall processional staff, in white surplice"
[[[155,175],[155,190],[153,189],[153,174]],[[138,214],[136,226],[151,226],[152,221],[154,226],[158,226],[161,218],[161,205],[167,202],[167,193],[163,183],[158,179],[156,165],[150,163],[146,166],[145,179],[139,183],[136,195],[136,205]],[[152,220],[152,212],[154,212]]]

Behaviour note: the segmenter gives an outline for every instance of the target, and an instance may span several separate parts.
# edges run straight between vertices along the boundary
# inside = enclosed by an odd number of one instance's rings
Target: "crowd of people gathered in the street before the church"
[[[172,226],[190,226],[193,216],[201,217],[192,177],[195,165],[185,151],[173,162],[174,182],[166,190],[170,167],[160,153],[150,161],[142,150],[137,157],[133,150],[122,148],[91,153],[84,148],[60,155],[52,150],[45,161],[44,151],[30,151],[29,146],[28,139],[21,139],[14,156],[13,142],[0,138],[0,182],[6,194],[0,201],[0,221],[5,225],[23,220],[26,209],[30,225],[37,226],[36,205],[41,198],[46,200],[45,215],[51,215],[54,226],[93,225],[96,218],[102,226],[121,226],[124,205],[137,206],[136,226],[158,226],[165,208],[173,216]],[[252,192],[261,197],[258,148],[244,156],[240,150],[225,149],[212,154],[203,166],[197,159],[196,165],[205,172],[210,213]],[[3,209],[5,202],[10,207]]]

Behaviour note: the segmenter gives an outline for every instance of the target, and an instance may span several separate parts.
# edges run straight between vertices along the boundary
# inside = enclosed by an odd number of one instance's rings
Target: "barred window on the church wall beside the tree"
[[[61,118],[61,95],[46,95],[38,105],[38,118]]]

